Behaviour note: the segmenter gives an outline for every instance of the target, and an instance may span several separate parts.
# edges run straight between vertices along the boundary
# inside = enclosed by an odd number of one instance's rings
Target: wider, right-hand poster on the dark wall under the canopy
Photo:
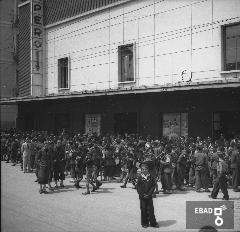
[[[163,114],[163,136],[174,138],[188,135],[187,113]]]

